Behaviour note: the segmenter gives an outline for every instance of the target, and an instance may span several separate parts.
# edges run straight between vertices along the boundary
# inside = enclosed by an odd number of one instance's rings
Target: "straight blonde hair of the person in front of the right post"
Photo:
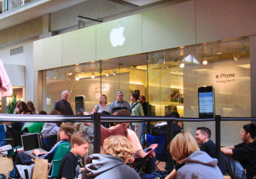
[[[181,132],[171,142],[170,153],[178,160],[186,159],[191,153],[199,151],[199,147],[193,136],[188,132]]]

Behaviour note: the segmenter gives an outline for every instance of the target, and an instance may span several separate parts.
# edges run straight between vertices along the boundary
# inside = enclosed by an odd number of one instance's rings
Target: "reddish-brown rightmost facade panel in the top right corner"
[[[196,43],[256,34],[255,0],[195,0]]]

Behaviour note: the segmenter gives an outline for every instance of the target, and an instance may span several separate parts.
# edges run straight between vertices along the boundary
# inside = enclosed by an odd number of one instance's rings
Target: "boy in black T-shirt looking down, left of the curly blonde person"
[[[88,153],[89,139],[82,132],[78,132],[71,136],[70,143],[72,149],[61,160],[57,179],[73,179],[81,178],[82,176],[78,156],[84,156]]]

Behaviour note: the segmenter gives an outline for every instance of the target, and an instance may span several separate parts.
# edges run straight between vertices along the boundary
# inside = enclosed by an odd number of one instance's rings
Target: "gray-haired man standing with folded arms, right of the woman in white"
[[[113,101],[109,107],[110,107],[110,113],[112,115],[116,115],[121,109],[126,109],[129,112],[131,112],[130,104],[129,102],[124,101],[124,93],[122,91],[117,92],[116,101]]]

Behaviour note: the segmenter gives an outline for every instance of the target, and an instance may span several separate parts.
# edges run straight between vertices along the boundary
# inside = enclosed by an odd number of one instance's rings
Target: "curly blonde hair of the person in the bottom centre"
[[[119,159],[133,158],[135,151],[132,148],[131,141],[125,136],[109,136],[104,140],[101,154],[110,154]]]

